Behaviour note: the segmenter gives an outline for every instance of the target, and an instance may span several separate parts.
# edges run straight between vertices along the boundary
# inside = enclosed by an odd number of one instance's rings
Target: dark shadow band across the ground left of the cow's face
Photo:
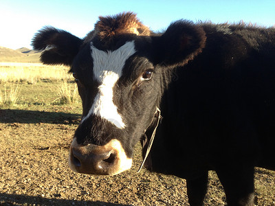
[[[50,123],[78,124],[81,115],[61,112],[26,111],[16,109],[1,109],[0,123]]]

